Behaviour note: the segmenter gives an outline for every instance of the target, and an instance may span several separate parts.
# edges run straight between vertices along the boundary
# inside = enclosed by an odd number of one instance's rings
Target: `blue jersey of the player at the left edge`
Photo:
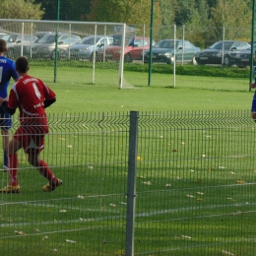
[[[18,79],[15,62],[4,56],[0,56],[0,96],[7,97],[7,88],[11,78]]]

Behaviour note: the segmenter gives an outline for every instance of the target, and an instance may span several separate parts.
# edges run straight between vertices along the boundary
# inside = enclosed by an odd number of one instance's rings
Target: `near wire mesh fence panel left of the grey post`
[[[19,152],[20,194],[1,195],[1,255],[115,255],[124,251],[129,116],[49,116],[41,159],[63,185],[47,180]],[[14,130],[18,120],[14,122]],[[2,174],[2,185],[8,182]]]

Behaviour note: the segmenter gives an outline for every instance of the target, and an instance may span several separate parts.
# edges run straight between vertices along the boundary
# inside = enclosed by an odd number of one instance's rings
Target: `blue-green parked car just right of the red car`
[[[172,64],[174,62],[188,63],[192,62],[195,53],[200,51],[200,48],[195,46],[188,40],[176,39],[164,39],[160,40],[152,47],[152,62]],[[144,62],[150,61],[150,50],[144,52]]]

